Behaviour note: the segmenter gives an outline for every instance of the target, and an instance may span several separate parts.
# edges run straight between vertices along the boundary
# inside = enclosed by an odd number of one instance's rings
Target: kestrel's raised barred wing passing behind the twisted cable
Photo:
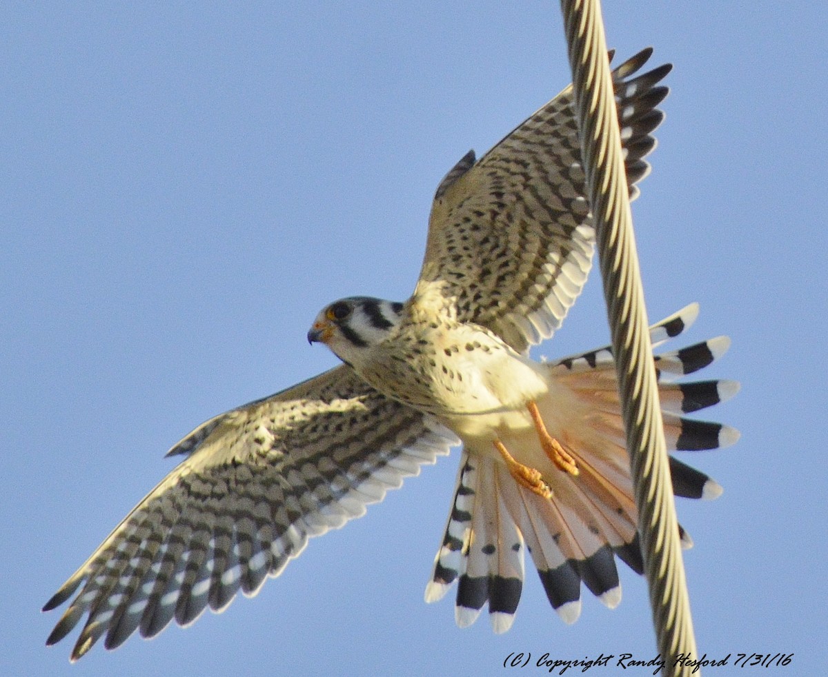
[[[649,171],[643,157],[662,121],[662,65],[630,78],[643,50],[614,70],[630,197]],[[590,271],[595,242],[585,197],[572,87],[534,113],[478,162],[469,152],[437,189],[415,292],[436,290],[461,321],[493,330],[517,351],[549,338]]]

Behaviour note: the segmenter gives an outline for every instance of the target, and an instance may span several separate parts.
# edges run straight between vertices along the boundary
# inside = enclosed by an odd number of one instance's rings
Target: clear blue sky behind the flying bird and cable
[[[344,295],[405,299],[440,177],[570,80],[552,2],[333,5],[0,9],[4,675],[489,675],[513,651],[657,653],[628,569],[621,605],[585,598],[572,627],[529,572],[503,636],[484,618],[455,627],[449,599],[423,603],[456,454],[220,616],[96,646],[72,667],[76,633],[44,647],[60,612],[42,604],[173,467],[166,449],[331,367],[305,339],[317,310]],[[814,588],[828,555],[825,10],[604,10],[619,55],[654,46],[653,65],[675,65],[633,205],[650,317],[700,301],[689,339],[729,334],[709,371],[743,384],[710,415],[739,444],[682,457],[724,486],[716,502],[678,505],[696,541],[696,638],[714,657],[793,652],[774,674],[816,674],[828,627]],[[602,304],[595,274],[542,353],[605,343]]]

